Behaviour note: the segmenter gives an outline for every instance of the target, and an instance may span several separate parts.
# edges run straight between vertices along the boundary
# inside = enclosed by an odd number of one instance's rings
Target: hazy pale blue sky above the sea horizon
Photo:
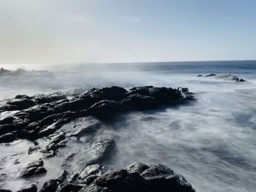
[[[255,0],[0,0],[0,64],[255,59]]]

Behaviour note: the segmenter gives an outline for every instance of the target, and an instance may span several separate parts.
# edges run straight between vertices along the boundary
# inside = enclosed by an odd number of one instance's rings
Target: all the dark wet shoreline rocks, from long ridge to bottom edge
[[[102,121],[118,114],[176,106],[190,100],[194,100],[194,96],[187,88],[153,86],[129,90],[116,86],[92,88],[72,98],[64,93],[18,95],[15,99],[1,101],[0,112],[10,112],[10,115],[0,120],[0,142],[28,139],[34,142],[28,149],[29,154],[39,151],[44,158],[49,158],[73,142],[72,138],[79,141],[84,134],[93,133]],[[87,120],[91,124],[77,126],[71,123],[75,120]],[[137,163],[121,170],[102,166],[118,153],[113,139],[94,141],[86,147],[86,154],[89,153],[91,158],[83,162],[83,171],[72,174],[64,171],[60,177],[46,182],[40,191],[195,191],[184,177],[167,166]],[[69,155],[66,160],[74,155]],[[36,177],[46,172],[43,160],[39,159],[20,170],[18,177]],[[37,191],[37,186],[29,185],[21,191]]]

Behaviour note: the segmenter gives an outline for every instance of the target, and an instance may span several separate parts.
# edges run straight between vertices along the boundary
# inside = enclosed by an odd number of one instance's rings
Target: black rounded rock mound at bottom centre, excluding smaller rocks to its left
[[[147,166],[136,163],[128,167],[128,170],[121,169],[100,174],[89,185],[82,188],[80,192],[195,192],[195,189],[187,183],[184,177],[174,173],[167,166],[160,164]],[[143,169],[145,170],[143,171]]]

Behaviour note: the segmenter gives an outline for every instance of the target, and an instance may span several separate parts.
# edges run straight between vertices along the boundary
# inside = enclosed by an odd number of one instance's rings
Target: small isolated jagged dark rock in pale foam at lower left
[[[28,166],[21,170],[21,172],[19,173],[19,177],[31,177],[34,174],[42,174],[47,172],[46,169],[43,167],[43,164],[44,163],[42,159],[28,164]]]

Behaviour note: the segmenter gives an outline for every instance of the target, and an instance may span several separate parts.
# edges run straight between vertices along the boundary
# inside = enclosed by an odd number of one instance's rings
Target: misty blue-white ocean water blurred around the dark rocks
[[[87,139],[115,139],[118,155],[106,163],[113,168],[135,161],[165,164],[184,175],[196,191],[255,191],[256,61],[5,65],[4,68],[23,68],[27,72],[0,77],[1,99],[17,94],[111,85],[187,87],[195,93],[196,101],[180,107],[120,115]],[[197,77],[211,73],[235,74],[246,82]],[[0,173],[8,172],[14,178],[20,167],[38,158],[40,154],[26,154],[25,149],[30,145],[27,141],[0,145],[3,152]],[[10,163],[14,153],[20,154],[23,164]],[[52,171],[41,178],[42,182],[59,174],[58,161],[61,157],[45,160],[45,167]],[[10,177],[7,182],[0,180],[0,186],[16,190],[35,180],[17,181]]]

